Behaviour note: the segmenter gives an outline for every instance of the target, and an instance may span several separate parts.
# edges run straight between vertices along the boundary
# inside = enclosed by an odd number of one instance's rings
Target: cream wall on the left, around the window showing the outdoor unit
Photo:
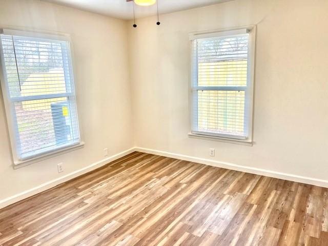
[[[38,0],[0,0],[0,28],[71,34],[83,149],[14,170],[0,95],[0,200],[133,147],[126,22]],[[64,172],[57,173],[57,163]]]

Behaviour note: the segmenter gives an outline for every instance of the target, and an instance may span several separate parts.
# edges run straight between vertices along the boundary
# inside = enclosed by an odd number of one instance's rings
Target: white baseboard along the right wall
[[[295,182],[300,182],[300,183],[307,183],[309,185],[315,185],[315,186],[328,188],[328,180],[324,180],[324,179],[304,177],[304,176],[299,176],[299,175],[294,175],[294,174],[289,174],[289,173],[281,173],[281,172],[276,172],[276,171],[271,171],[271,170],[266,170],[266,169],[241,166],[241,165],[237,165],[237,164],[233,164],[233,163],[229,163],[229,162],[210,160],[210,159],[205,159],[205,158],[175,154],[175,153],[170,153],[170,152],[166,152],[166,151],[152,150],[152,149],[146,149],[146,148],[136,147],[136,148],[134,148],[134,151],[139,151],[139,152],[144,152],[144,153],[154,154],[154,155],[161,155],[161,156],[166,156],[166,157],[171,157],[171,158],[176,158],[176,159],[181,159],[181,160],[193,161],[193,162],[198,162],[198,163],[202,163],[202,164],[206,164],[206,165],[210,165],[210,166],[214,166],[214,167],[226,168],[226,169],[241,171],[241,172],[245,172],[245,173],[253,173],[253,174],[258,174],[258,175],[262,175],[262,176],[290,180],[290,181],[295,181]]]

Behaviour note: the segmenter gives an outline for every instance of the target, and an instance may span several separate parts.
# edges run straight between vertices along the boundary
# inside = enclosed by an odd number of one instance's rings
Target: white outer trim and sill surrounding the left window
[[[71,66],[72,66],[72,73],[73,77],[75,78],[75,66],[74,66],[74,51],[73,51],[73,45],[71,42],[71,38],[69,34],[66,33],[42,33],[42,32],[30,32],[30,31],[20,31],[20,30],[11,30],[11,29],[0,29],[1,34],[5,35],[17,35],[17,36],[25,36],[25,37],[34,37],[34,38],[43,38],[43,39],[54,39],[54,40],[61,40],[61,41],[68,41],[69,42],[69,48],[70,48],[70,54],[71,54]],[[81,129],[81,126],[79,124],[79,114],[77,110],[78,105],[78,99],[76,96],[76,86],[75,83],[73,84],[73,89],[75,92],[75,101],[76,101],[76,114],[77,114],[77,124],[79,126],[79,136],[80,141],[76,144],[63,147],[60,149],[52,150],[49,152],[40,153],[35,156],[31,156],[28,159],[20,159],[18,157],[17,153],[17,146],[16,146],[16,134],[14,129],[14,112],[12,107],[12,99],[9,96],[9,88],[8,88],[8,81],[7,76],[5,75],[4,71],[4,55],[2,46],[0,45],[0,85],[3,90],[3,97],[4,97],[4,105],[5,105],[5,111],[6,111],[6,117],[7,117],[7,126],[8,126],[8,132],[9,132],[9,138],[10,138],[10,146],[11,146],[11,152],[12,152],[12,162],[14,169],[30,165],[31,163],[45,160],[54,156],[57,156],[58,154],[64,154],[76,149],[83,148],[85,143],[83,141],[83,131]]]

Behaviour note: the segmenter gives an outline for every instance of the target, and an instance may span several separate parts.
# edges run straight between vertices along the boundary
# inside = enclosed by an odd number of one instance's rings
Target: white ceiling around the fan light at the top
[[[46,2],[65,5],[94,13],[104,14],[120,19],[133,18],[132,2],[126,0],[43,0]],[[179,10],[228,2],[232,0],[157,0],[160,13],[171,13]],[[156,14],[156,5],[150,7],[135,8],[136,18],[152,16]]]

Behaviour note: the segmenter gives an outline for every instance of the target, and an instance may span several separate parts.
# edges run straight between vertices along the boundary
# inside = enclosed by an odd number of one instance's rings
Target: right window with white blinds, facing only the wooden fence
[[[252,32],[191,35],[192,134],[251,141]]]

